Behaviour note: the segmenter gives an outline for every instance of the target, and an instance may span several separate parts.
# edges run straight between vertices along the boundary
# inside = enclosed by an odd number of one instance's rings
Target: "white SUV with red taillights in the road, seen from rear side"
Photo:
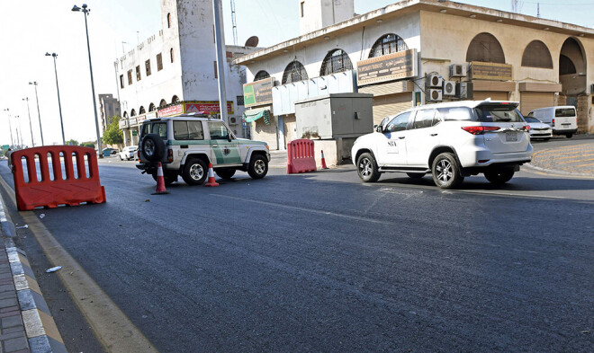
[[[356,139],[353,163],[365,182],[383,172],[410,178],[431,172],[438,187],[451,189],[482,172],[492,183],[506,183],[532,159],[529,127],[517,107],[511,101],[454,101],[405,110]]]

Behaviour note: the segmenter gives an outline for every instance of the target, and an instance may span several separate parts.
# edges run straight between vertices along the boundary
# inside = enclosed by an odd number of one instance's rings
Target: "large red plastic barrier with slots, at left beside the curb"
[[[62,158],[60,158],[62,153]],[[53,180],[49,177],[48,154],[52,165]],[[86,177],[85,155],[89,177]],[[73,165],[73,156],[76,165]],[[23,157],[27,161],[27,175],[24,179]],[[37,161],[36,161],[37,157]],[[14,175],[14,192],[20,211],[35,207],[58,207],[58,205],[77,206],[81,202],[105,202],[105,189],[99,181],[97,155],[93,148],[79,146],[43,146],[14,151],[11,155]],[[38,181],[39,162],[41,181]],[[62,165],[66,179],[62,176]],[[76,167],[75,178],[74,168]]]

